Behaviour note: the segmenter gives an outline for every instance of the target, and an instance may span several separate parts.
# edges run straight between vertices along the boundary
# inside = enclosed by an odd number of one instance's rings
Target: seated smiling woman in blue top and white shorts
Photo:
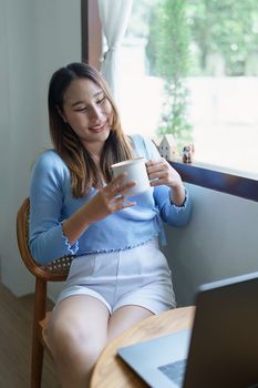
[[[62,387],[86,386],[104,346],[131,325],[175,307],[171,270],[158,248],[162,222],[183,226],[190,203],[178,173],[154,144],[126,136],[107,86],[87,64],[58,70],[49,88],[53,150],[31,180],[30,248],[45,264],[74,255],[48,328]],[[111,165],[145,156],[151,188]]]

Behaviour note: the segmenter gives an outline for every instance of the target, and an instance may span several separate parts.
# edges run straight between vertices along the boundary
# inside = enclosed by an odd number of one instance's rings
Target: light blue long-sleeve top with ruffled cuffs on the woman
[[[141,135],[131,136],[135,156],[147,160],[161,157],[156,146]],[[172,204],[169,187],[149,187],[132,197],[133,207],[121,210],[91,224],[81,237],[70,245],[62,231],[62,222],[89,202],[96,188],[91,187],[81,198],[71,193],[71,175],[62,159],[52,150],[37,160],[30,187],[30,249],[34,259],[47,264],[65,255],[122,251],[144,244],[159,233],[162,221],[180,227],[188,223],[190,200],[182,206]]]

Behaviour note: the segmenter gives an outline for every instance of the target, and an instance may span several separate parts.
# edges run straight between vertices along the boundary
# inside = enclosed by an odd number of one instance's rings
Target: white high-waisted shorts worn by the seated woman
[[[56,304],[73,295],[102,300],[110,314],[126,305],[154,314],[176,307],[171,269],[156,238],[126,251],[74,258]]]

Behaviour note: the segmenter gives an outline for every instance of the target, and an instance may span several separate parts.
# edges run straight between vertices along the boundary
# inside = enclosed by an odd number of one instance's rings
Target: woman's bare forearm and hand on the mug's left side
[[[136,205],[135,202],[126,200],[126,193],[135,186],[136,182],[124,183],[125,176],[126,173],[123,173],[114,177],[106,186],[100,188],[92,200],[63,222],[63,233],[71,245],[91,224],[112,213]]]

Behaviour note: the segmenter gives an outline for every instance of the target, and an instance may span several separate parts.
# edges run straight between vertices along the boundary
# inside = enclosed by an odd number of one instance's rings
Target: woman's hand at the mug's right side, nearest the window
[[[164,159],[149,160],[146,163],[151,186],[166,185],[169,187],[182,186],[180,175],[171,164]]]

